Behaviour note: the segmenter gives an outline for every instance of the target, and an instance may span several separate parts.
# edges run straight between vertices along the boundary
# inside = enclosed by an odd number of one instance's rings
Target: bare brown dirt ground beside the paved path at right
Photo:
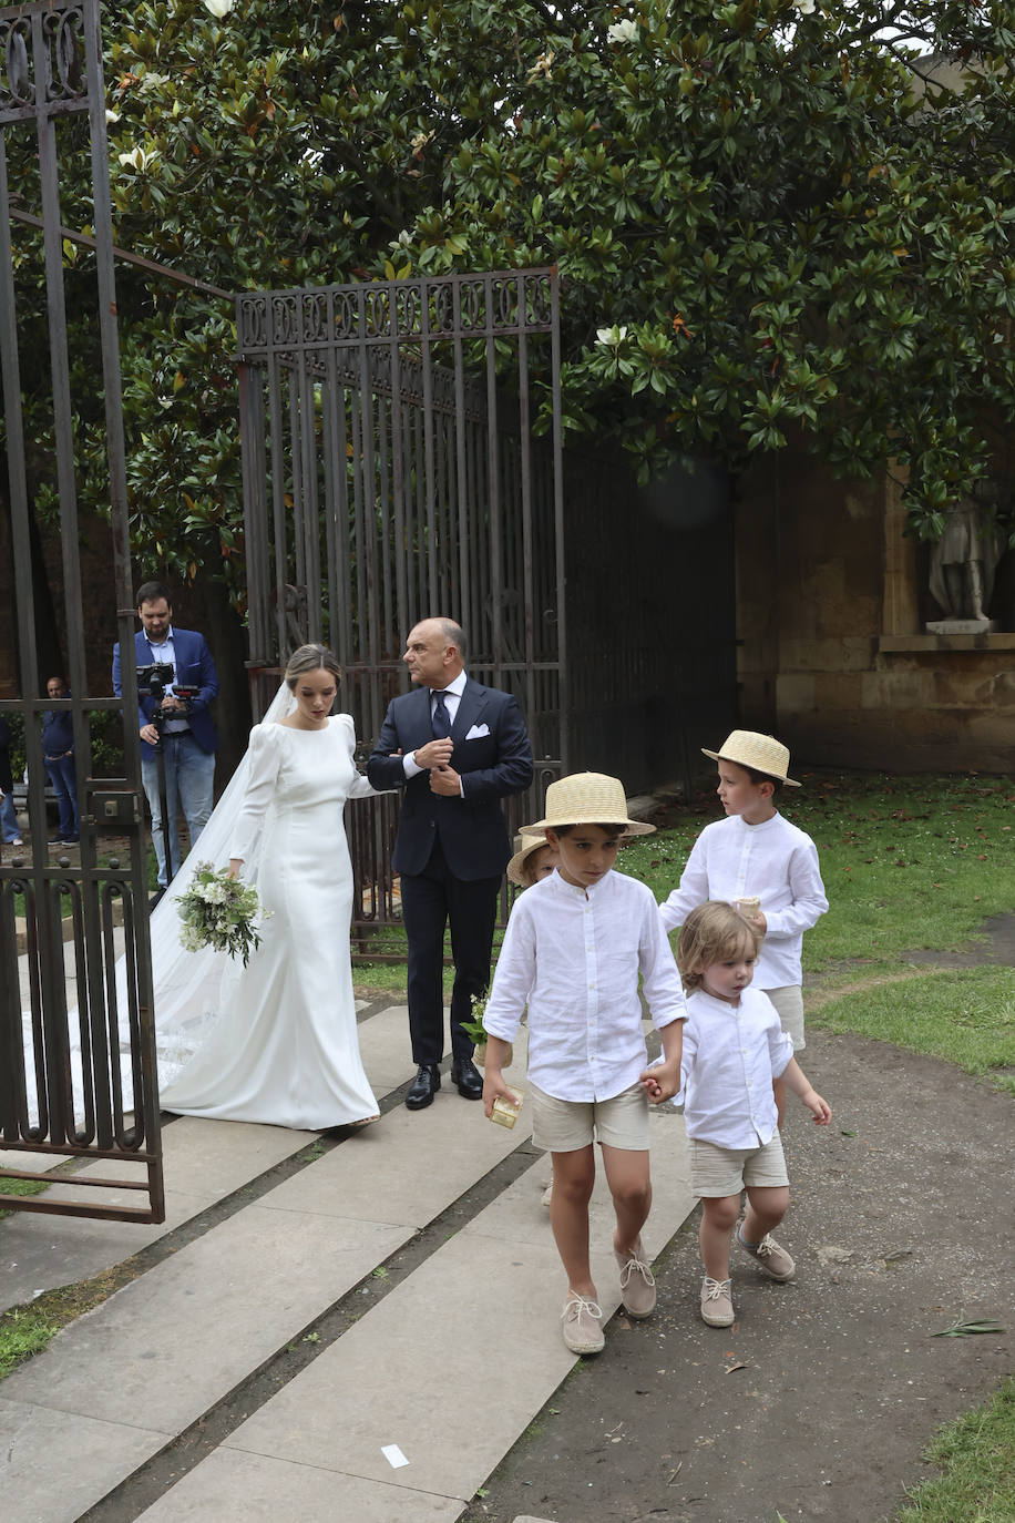
[[[948,961],[1010,961],[1015,918],[992,929]],[[705,1327],[695,1211],[656,1263],[654,1317],[610,1322],[467,1523],[880,1523],[931,1473],[933,1432],[1012,1374],[1010,1097],[860,1037],[811,1031],[800,1062],[834,1116],[790,1098],[796,1281],[740,1252],[738,1320]],[[1006,1331],[933,1336],[963,1317]]]

